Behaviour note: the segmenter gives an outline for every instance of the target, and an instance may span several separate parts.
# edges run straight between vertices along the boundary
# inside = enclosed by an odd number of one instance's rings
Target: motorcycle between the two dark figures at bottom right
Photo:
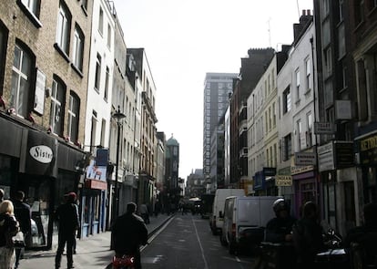
[[[335,233],[332,229],[323,238],[325,245],[328,247],[326,251],[317,253],[315,257],[315,264],[320,268],[350,268],[349,255],[342,246],[341,235]]]

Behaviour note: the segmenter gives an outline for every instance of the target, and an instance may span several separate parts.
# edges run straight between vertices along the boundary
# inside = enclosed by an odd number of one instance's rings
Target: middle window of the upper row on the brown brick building
[[[60,1],[57,16],[56,45],[66,54],[69,48],[69,32],[71,31],[71,18],[68,8]]]

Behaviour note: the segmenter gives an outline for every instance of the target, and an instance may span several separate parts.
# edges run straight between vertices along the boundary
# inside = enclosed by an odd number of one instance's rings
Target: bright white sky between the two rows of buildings
[[[144,47],[158,131],[179,143],[179,177],[202,169],[208,72],[239,73],[249,48],[290,45],[312,0],[114,0],[127,47]]]

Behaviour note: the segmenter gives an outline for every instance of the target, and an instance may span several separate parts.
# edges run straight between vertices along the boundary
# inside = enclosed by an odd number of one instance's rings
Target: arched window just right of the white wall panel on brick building
[[[62,80],[54,77],[51,88],[50,128],[58,136],[63,135],[65,98],[66,85]]]

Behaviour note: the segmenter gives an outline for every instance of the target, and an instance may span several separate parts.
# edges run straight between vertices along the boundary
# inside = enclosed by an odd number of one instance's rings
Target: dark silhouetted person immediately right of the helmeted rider
[[[314,202],[305,202],[301,219],[293,226],[293,243],[298,269],[314,269],[315,256],[325,249],[323,229],[319,223],[318,208]]]

